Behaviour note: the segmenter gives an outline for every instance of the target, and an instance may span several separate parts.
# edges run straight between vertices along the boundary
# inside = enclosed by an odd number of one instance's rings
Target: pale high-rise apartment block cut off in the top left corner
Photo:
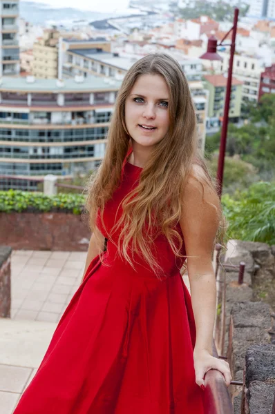
[[[0,77],[20,72],[19,0],[0,0]]]

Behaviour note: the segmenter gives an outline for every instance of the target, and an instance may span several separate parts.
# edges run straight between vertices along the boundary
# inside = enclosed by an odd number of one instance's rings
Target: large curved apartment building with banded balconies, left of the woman
[[[5,77],[0,85],[0,176],[72,177],[100,164],[121,81]],[[0,188],[35,189],[0,179]]]

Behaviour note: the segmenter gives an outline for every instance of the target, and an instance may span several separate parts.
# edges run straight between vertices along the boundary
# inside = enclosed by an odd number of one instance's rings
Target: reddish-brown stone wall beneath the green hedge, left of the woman
[[[0,213],[0,245],[27,250],[86,251],[91,233],[85,221],[70,213]]]

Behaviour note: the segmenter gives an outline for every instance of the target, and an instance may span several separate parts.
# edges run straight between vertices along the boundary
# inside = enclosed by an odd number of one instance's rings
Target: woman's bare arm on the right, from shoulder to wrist
[[[204,184],[204,193],[206,202],[202,201],[202,186],[198,181],[188,180],[180,224],[187,251],[187,271],[196,321],[194,353],[207,350],[211,354],[216,315],[216,279],[211,252],[219,213],[218,195],[207,184]]]

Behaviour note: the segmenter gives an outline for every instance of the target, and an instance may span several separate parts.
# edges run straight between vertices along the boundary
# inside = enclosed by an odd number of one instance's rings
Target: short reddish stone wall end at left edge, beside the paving
[[[10,317],[10,257],[12,249],[0,246],[0,317]]]

